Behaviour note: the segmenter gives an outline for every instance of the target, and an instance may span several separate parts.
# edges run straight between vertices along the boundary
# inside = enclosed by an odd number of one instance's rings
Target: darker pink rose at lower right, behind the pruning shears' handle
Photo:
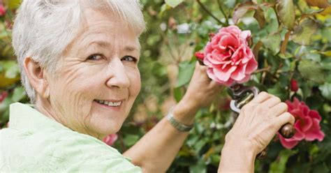
[[[310,110],[304,102],[300,102],[297,98],[294,98],[293,103],[287,100],[286,104],[288,105],[288,112],[295,117],[295,135],[286,139],[278,134],[281,144],[286,149],[292,149],[301,140],[322,141],[324,139],[324,133],[319,124],[321,116],[316,110]]]

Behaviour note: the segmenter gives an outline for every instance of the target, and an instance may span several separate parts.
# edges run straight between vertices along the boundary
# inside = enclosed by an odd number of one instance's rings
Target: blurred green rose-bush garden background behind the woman
[[[331,172],[330,0],[141,2],[147,22],[140,38],[142,89],[131,116],[109,144],[125,151],[163,118],[184,95],[196,62],[194,53],[203,52],[209,33],[236,24],[251,31],[258,61],[258,70],[247,84],[282,101],[302,101],[302,106],[319,113],[325,134],[321,141],[301,140],[292,149],[275,136],[267,158],[256,160],[256,172]],[[0,128],[8,126],[11,103],[29,102],[10,45],[19,4],[20,0],[0,0]],[[219,97],[214,103],[198,112],[195,128],[168,172],[216,172],[224,137],[234,120],[226,89],[215,94]],[[295,117],[300,126],[307,125],[301,115]]]

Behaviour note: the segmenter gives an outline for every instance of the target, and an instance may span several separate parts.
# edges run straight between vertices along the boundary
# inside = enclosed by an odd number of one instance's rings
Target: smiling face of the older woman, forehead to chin
[[[138,36],[114,15],[86,10],[83,31],[49,81],[57,118],[80,133],[116,133],[140,91]]]

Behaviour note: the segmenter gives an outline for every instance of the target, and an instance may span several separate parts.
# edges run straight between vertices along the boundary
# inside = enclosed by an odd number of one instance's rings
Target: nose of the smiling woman
[[[111,61],[108,70],[110,71],[109,79],[106,83],[108,87],[124,89],[130,86],[128,72],[120,59]]]

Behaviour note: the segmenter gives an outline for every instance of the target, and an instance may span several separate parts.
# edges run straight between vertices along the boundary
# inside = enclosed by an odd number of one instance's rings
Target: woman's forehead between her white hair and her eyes
[[[101,48],[121,47],[122,50],[139,51],[139,39],[135,31],[118,17],[95,10],[85,12],[82,29],[73,40],[71,46],[75,49],[96,46]]]

